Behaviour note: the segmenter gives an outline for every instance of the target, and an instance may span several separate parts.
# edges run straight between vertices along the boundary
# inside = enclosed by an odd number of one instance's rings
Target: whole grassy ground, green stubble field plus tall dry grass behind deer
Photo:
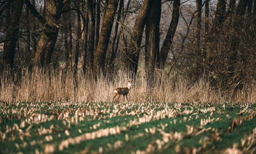
[[[204,80],[114,80],[59,72],[1,78],[0,153],[254,153],[254,84],[236,92]]]

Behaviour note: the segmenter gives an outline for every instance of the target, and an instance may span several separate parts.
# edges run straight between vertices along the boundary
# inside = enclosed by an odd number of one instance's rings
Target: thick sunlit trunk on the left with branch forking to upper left
[[[59,21],[64,6],[63,1],[45,0],[44,16],[42,16],[28,0],[24,0],[29,10],[43,25],[43,32],[36,48],[33,60],[34,69],[47,69],[59,32]]]

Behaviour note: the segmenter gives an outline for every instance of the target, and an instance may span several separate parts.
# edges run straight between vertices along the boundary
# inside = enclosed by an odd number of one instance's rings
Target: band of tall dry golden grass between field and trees
[[[114,79],[110,76],[97,76],[78,73],[74,78],[72,72],[51,71],[51,73],[23,71],[19,78],[5,73],[1,77],[0,99],[8,102],[111,102],[116,87],[126,87],[128,72],[118,71]],[[242,90],[215,89],[205,80],[196,83],[179,75],[163,78],[156,76],[154,85],[148,88],[143,72],[137,76],[128,99],[134,102],[251,102],[256,100],[255,81],[247,84]],[[76,86],[77,85],[77,86]],[[123,97],[120,98],[123,101]]]

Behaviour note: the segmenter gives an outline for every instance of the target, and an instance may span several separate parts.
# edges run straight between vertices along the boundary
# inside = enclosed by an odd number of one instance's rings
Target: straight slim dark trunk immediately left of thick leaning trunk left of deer
[[[94,16],[94,0],[87,1],[89,30],[88,30],[88,66],[93,71],[94,63],[94,44],[95,44],[95,16]]]

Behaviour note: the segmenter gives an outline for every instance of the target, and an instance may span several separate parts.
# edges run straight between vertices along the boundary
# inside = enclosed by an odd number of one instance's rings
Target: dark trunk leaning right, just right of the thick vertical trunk
[[[164,64],[166,63],[167,56],[169,54],[170,48],[172,46],[173,37],[175,31],[177,29],[178,21],[179,21],[179,6],[180,0],[173,1],[173,13],[172,13],[172,21],[168,28],[166,38],[163,41],[161,52],[160,52],[160,68],[163,69]]]

